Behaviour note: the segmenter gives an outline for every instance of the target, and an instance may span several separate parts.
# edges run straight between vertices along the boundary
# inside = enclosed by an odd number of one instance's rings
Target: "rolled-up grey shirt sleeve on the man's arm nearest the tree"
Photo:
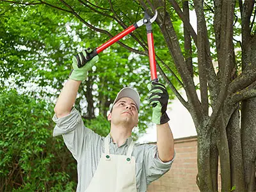
[[[170,170],[174,157],[171,161],[163,162],[158,156],[157,145],[150,144],[145,146],[145,156],[143,161],[145,164],[147,185],[150,184],[150,182],[159,179],[164,173]]]

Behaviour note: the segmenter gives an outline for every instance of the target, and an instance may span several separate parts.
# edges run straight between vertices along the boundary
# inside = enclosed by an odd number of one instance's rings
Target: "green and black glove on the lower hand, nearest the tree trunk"
[[[166,114],[169,95],[166,87],[155,81],[151,81],[148,84],[148,90],[150,90],[149,103],[152,106],[152,122],[155,124],[165,124],[170,120]]]

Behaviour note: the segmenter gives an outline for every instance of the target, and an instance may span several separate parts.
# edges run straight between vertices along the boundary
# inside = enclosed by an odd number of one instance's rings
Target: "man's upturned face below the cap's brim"
[[[138,125],[138,109],[134,100],[129,97],[119,99],[109,113],[108,120],[111,120],[111,124],[126,125],[131,129]]]

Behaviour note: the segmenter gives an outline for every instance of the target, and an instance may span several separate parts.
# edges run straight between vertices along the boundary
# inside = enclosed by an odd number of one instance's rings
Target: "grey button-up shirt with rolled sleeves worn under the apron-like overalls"
[[[69,115],[62,118],[57,118],[54,115],[52,120],[56,123],[53,136],[63,136],[68,150],[77,161],[77,191],[83,192],[88,188],[100,157],[105,150],[104,137],[84,127],[81,115],[75,108]],[[122,146],[118,147],[109,136],[110,154],[125,155],[131,140],[131,137],[128,138]],[[148,184],[168,172],[173,162],[172,160],[163,163],[158,157],[156,145],[135,144],[132,156],[136,159],[136,187],[138,192],[147,191]]]

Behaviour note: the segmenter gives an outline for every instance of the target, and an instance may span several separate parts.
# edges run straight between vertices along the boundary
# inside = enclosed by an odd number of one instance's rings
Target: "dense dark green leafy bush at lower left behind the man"
[[[52,137],[49,109],[15,90],[0,94],[0,191],[76,188],[76,163],[62,138]]]

